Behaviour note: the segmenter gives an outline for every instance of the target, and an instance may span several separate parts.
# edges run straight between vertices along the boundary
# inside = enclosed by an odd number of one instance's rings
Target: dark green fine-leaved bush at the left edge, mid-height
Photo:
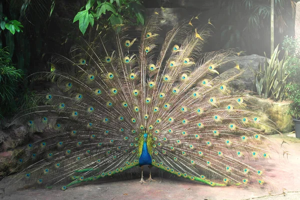
[[[16,69],[10,59],[7,49],[0,49],[0,105],[2,114],[13,111],[11,106],[17,93],[17,83],[22,76],[22,70]]]

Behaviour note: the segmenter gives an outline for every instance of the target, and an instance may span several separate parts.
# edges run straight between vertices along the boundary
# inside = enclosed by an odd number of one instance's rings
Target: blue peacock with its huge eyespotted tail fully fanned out
[[[148,165],[149,182],[154,166],[210,186],[271,185],[251,163],[280,149],[256,131],[274,124],[256,97],[230,87],[243,72],[232,62],[234,51],[202,53],[211,23],[198,28],[193,20],[174,25],[159,51],[157,12],[139,39],[118,24],[109,35],[113,46],[98,37],[39,72],[53,84],[14,118],[40,133],[14,151],[10,183],[65,190],[138,166],[143,184]],[[219,73],[227,62],[232,68]]]

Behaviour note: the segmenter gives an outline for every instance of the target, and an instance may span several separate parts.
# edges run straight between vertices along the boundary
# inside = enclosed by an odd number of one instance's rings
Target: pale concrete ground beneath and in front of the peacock
[[[282,141],[279,135],[269,137],[278,143]],[[294,133],[284,134],[283,139],[287,142],[285,147],[289,153],[288,158],[279,160],[272,157],[265,166],[268,174],[277,181],[276,185],[282,188],[282,193],[278,195],[269,195],[262,189],[237,186],[211,187],[184,178],[170,177],[168,173],[161,174],[156,170],[153,174],[156,181],[150,183],[137,183],[139,178],[134,175],[137,173],[132,173],[132,177],[109,177],[92,184],[70,187],[65,191],[59,188],[26,189],[9,195],[2,194],[2,199],[300,199],[300,139],[295,138]],[[144,172],[144,176],[147,178],[148,172]],[[3,184],[4,181],[1,181],[0,187]]]

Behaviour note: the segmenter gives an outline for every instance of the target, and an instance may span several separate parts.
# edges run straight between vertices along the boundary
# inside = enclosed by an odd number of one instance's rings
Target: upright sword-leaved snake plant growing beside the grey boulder
[[[287,91],[287,81],[289,73],[287,71],[287,56],[285,51],[283,58],[279,60],[280,50],[278,46],[274,49],[271,58],[268,60],[265,55],[264,64],[259,64],[259,69],[254,70],[255,88],[259,96],[283,100]]]

